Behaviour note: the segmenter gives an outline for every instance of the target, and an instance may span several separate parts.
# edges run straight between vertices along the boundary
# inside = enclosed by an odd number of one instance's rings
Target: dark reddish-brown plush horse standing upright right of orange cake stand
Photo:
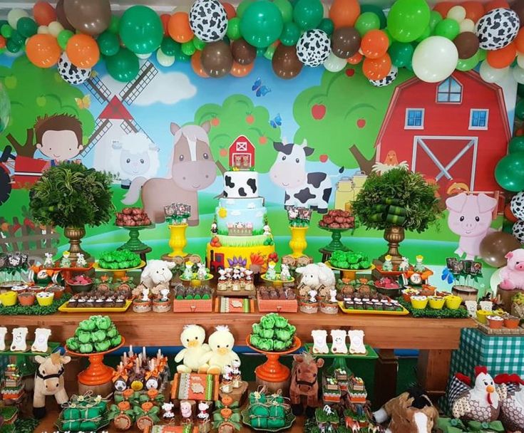
[[[312,416],[314,409],[320,406],[319,402],[319,368],[324,365],[322,358],[315,359],[311,353],[293,355],[291,369],[291,385],[289,386],[289,399],[292,412],[300,415],[304,412],[302,397],[306,400],[306,414]]]

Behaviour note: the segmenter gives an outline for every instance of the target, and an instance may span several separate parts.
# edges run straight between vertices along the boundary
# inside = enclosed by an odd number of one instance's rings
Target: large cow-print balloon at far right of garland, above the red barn
[[[478,20],[475,33],[483,50],[498,50],[517,37],[520,28],[518,15],[511,9],[493,9]]]

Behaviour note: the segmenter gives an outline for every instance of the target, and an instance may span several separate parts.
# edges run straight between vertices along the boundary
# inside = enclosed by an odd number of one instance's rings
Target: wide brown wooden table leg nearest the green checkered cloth
[[[421,350],[418,354],[417,377],[431,400],[446,392],[451,365],[451,350]]]

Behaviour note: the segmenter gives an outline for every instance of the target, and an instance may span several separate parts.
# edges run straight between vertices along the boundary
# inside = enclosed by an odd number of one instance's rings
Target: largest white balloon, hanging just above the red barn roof
[[[426,83],[438,83],[448,78],[457,66],[455,44],[443,36],[429,36],[415,48],[413,72]]]

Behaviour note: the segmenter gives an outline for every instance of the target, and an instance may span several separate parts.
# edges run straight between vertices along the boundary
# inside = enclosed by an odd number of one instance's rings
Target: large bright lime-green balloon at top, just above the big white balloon
[[[429,24],[430,10],[426,0],[396,0],[388,14],[391,36],[399,42],[412,42]]]

